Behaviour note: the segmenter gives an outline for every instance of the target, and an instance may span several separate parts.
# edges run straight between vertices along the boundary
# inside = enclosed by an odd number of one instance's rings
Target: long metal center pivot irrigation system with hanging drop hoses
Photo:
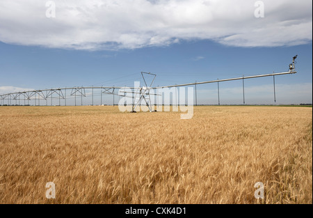
[[[129,97],[133,98],[132,101],[132,107],[131,111],[135,112],[136,107],[141,104],[142,101],[145,102],[147,107],[149,108],[149,111],[154,111],[152,109],[152,102],[151,102],[151,95],[158,95],[154,93],[150,93],[150,91],[154,89],[162,89],[162,88],[172,88],[172,87],[179,87],[179,86],[195,86],[195,105],[197,105],[197,85],[200,84],[209,84],[209,83],[217,83],[218,84],[218,105],[220,105],[220,91],[219,91],[219,82],[222,81],[232,81],[232,80],[239,80],[242,79],[242,85],[243,85],[243,104],[245,104],[245,88],[244,88],[244,80],[245,79],[252,79],[252,78],[258,78],[258,77],[273,77],[273,88],[274,88],[274,101],[276,102],[276,93],[275,93],[275,76],[279,75],[289,75],[296,73],[295,70],[295,59],[298,55],[294,56],[292,63],[289,64],[289,71],[287,72],[273,72],[271,74],[265,74],[265,75],[255,75],[255,76],[248,76],[248,77],[236,77],[236,78],[230,78],[230,79],[216,79],[211,81],[200,81],[200,82],[193,82],[188,84],[178,84],[178,85],[170,85],[170,86],[158,86],[158,87],[152,87],[152,84],[154,82],[155,77],[157,75],[152,74],[150,72],[141,72],[141,76],[143,77],[143,81],[145,83],[145,86],[143,87],[118,87],[118,86],[80,86],[80,87],[72,87],[72,88],[51,88],[51,89],[42,89],[42,90],[34,90],[34,91],[22,91],[22,92],[15,92],[15,93],[7,93],[0,95],[0,105],[13,105],[12,100],[15,100],[14,105],[23,105],[20,104],[20,101],[24,100],[24,105],[30,105],[30,100],[35,100],[35,106],[40,106],[40,99],[46,101],[46,105],[48,105],[48,100],[51,98],[51,105],[52,105],[52,98],[58,98],[58,105],[61,106],[61,99],[65,100],[65,106],[67,105],[67,95],[66,91],[70,90],[70,96],[75,99],[75,106],[77,105],[77,96],[81,97],[81,105],[83,105],[83,97],[86,97],[86,89],[92,90],[92,98],[94,105],[94,90],[100,89],[101,91],[101,104],[102,104],[102,93],[104,94],[111,94],[113,95],[113,106],[114,104],[114,95],[122,96],[122,97]],[[148,85],[145,79],[145,76],[150,75],[153,77],[152,82]],[[126,91],[127,89],[131,89],[131,91]],[[115,93],[115,90],[119,90],[120,92],[117,94]],[[124,90],[124,91],[123,91]],[[121,95],[120,93],[124,93],[124,95]],[[131,93],[131,96],[126,95],[126,93]],[[54,97],[53,97],[54,95]],[[26,101],[28,104],[26,104]],[[36,104],[36,101],[38,101],[38,104]],[[5,104],[7,102],[7,104]],[[18,102],[18,103],[17,103]]]

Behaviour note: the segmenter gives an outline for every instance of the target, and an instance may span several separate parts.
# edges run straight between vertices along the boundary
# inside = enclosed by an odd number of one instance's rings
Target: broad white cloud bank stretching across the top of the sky
[[[209,39],[239,47],[301,45],[312,41],[312,1],[264,0],[1,0],[0,40],[72,49],[134,49]]]

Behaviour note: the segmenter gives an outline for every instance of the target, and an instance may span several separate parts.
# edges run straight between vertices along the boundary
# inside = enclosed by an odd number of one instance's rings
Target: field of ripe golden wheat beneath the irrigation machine
[[[312,108],[179,117],[0,107],[0,203],[312,203]],[[49,181],[56,199],[45,198]]]

